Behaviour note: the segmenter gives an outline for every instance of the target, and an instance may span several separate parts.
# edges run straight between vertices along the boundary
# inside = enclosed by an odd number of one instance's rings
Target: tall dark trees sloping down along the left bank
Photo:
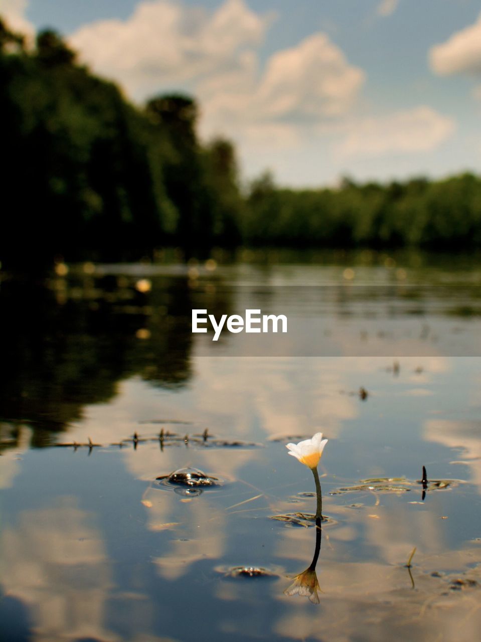
[[[232,191],[216,193],[192,98],[161,96],[140,110],[76,64],[57,33],[39,33],[26,51],[0,22],[0,99],[4,265],[137,259],[173,244],[209,252],[225,229],[214,218],[229,219],[235,236]]]

